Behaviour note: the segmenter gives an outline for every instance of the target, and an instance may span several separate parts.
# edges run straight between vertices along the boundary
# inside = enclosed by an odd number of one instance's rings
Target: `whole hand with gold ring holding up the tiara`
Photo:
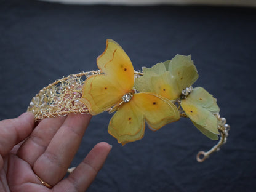
[[[62,180],[91,116],[69,114],[42,120],[34,116],[0,121],[0,191],[85,191],[103,166],[111,146],[98,143]],[[41,181],[52,186],[52,190]]]

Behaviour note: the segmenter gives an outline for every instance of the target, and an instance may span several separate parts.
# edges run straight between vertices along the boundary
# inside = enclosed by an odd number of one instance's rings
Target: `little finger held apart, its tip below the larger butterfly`
[[[54,186],[54,190],[85,191],[102,168],[111,148],[112,146],[105,142],[95,145],[68,178]]]

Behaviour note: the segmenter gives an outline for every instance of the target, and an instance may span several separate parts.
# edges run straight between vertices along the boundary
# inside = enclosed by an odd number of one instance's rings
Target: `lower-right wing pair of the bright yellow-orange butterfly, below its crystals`
[[[179,118],[177,107],[169,100],[156,94],[138,93],[114,114],[108,132],[124,145],[143,137],[145,119],[152,130],[158,130]]]

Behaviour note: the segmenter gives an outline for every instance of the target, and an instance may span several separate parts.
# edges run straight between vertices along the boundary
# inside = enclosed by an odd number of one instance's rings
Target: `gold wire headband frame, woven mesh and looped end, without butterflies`
[[[47,87],[44,87],[33,97],[30,106],[28,106],[28,111],[34,113],[36,121],[44,118],[54,118],[55,116],[66,116],[70,113],[89,114],[87,106],[80,101],[82,87],[86,78],[97,74],[102,74],[102,71],[82,72],[58,79]],[[134,71],[134,74],[135,78],[143,75],[142,71]],[[181,116],[187,117],[183,113]],[[220,146],[226,143],[230,126],[226,124],[225,118],[220,117],[220,114],[216,114],[216,116],[218,119],[220,140],[209,151],[199,151],[196,156],[198,162],[203,162],[210,154],[218,151]]]

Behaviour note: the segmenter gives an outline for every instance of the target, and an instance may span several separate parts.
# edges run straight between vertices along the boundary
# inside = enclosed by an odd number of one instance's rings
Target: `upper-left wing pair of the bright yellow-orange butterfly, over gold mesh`
[[[99,114],[121,102],[134,84],[134,68],[126,52],[113,40],[106,41],[106,50],[97,58],[104,74],[90,76],[84,82],[81,102],[90,114]]]

